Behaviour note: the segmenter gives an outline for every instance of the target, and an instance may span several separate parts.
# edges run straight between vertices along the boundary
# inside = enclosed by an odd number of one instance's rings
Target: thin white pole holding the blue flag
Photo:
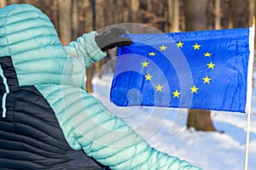
[[[246,133],[246,152],[245,152],[245,163],[244,170],[248,168],[248,157],[249,157],[249,140],[250,140],[250,124],[251,124],[251,103],[252,103],[252,87],[253,87],[253,58],[254,58],[254,31],[255,31],[255,17],[253,16],[252,26],[249,28],[249,64],[248,64],[248,77],[247,77],[247,133]]]

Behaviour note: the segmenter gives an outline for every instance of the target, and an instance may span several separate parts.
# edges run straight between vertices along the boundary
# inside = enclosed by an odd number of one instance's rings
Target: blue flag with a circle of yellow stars
[[[129,34],[118,49],[115,105],[246,112],[249,28]]]

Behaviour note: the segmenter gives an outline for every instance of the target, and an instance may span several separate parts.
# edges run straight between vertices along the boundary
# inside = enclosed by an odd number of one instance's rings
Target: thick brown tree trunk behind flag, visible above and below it
[[[186,31],[207,29],[206,7],[207,0],[186,0],[184,3]],[[195,127],[196,130],[201,131],[215,131],[211,111],[189,110],[187,127]]]

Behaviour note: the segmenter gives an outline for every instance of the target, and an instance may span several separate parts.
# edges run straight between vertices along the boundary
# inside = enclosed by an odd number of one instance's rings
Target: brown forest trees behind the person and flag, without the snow
[[[248,27],[252,25],[255,15],[255,2],[256,0],[0,0],[0,8],[13,3],[30,3],[40,8],[54,23],[62,44],[67,45],[86,32],[121,26],[123,23],[143,25],[133,25],[129,30],[131,33]],[[111,52],[108,55],[115,57]],[[95,73],[100,75],[105,62],[102,59],[87,68],[87,92],[93,92],[91,79]],[[203,131],[216,130],[212,124],[211,111],[202,110],[189,110],[187,127]]]

